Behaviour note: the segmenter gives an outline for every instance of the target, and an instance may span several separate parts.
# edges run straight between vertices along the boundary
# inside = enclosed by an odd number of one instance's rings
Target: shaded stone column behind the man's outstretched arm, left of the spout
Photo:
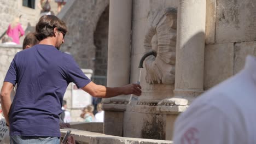
[[[110,0],[108,35],[107,86],[118,87],[129,84],[131,57],[132,1]],[[104,134],[123,135],[123,112],[129,102],[128,95],[104,99]],[[117,121],[113,123],[114,117]]]

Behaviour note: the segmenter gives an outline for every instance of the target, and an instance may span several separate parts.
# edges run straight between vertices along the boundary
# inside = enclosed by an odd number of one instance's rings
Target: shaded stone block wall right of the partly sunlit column
[[[247,55],[256,56],[255,4],[249,0],[207,0],[205,90],[240,71]]]

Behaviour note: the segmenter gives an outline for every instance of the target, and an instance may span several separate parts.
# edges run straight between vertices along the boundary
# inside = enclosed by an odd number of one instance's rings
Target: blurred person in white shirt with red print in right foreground
[[[173,143],[256,143],[256,57],[197,98],[174,124]]]

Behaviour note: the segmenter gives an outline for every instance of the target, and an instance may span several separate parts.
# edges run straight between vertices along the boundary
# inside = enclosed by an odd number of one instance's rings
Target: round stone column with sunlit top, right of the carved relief
[[[205,55],[205,0],[180,0],[178,4],[176,71],[174,97],[160,101],[157,109],[167,113],[173,125],[177,115],[187,109],[191,101],[203,92]],[[167,128],[170,129],[171,127]],[[166,130],[166,139],[172,131]]]

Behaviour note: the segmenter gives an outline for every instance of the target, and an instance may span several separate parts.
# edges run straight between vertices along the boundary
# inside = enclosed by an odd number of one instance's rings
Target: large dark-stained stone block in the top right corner
[[[256,39],[256,1],[219,0],[216,5],[216,41],[232,43]]]

